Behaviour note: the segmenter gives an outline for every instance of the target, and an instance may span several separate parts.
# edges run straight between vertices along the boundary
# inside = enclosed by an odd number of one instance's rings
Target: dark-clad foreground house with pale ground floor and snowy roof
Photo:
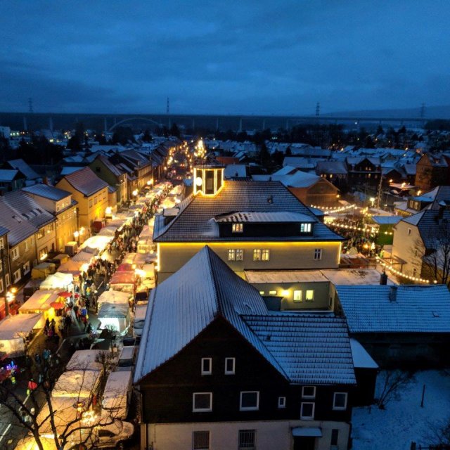
[[[141,449],[348,448],[345,319],[269,314],[208,247],[152,290],[134,383]]]

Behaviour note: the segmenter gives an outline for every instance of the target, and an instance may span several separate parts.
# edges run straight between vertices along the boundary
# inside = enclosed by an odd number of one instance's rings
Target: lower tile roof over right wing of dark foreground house
[[[354,385],[345,319],[277,314],[243,316],[294,384]]]

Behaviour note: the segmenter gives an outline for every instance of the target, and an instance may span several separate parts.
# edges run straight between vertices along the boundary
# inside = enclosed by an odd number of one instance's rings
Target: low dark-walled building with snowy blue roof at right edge
[[[445,285],[337,285],[336,291],[336,311],[378,364],[447,364],[450,293]]]

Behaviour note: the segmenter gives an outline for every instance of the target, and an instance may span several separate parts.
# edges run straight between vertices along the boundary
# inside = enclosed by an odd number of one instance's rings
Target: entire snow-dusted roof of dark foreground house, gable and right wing
[[[150,294],[135,383],[219,317],[290,383],[355,383],[344,319],[269,314],[257,290],[207,246]]]

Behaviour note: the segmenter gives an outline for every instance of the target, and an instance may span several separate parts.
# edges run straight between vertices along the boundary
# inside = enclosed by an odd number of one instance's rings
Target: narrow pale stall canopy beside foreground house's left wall
[[[103,392],[103,408],[111,416],[124,419],[128,414],[133,377],[131,371],[111,372]]]

